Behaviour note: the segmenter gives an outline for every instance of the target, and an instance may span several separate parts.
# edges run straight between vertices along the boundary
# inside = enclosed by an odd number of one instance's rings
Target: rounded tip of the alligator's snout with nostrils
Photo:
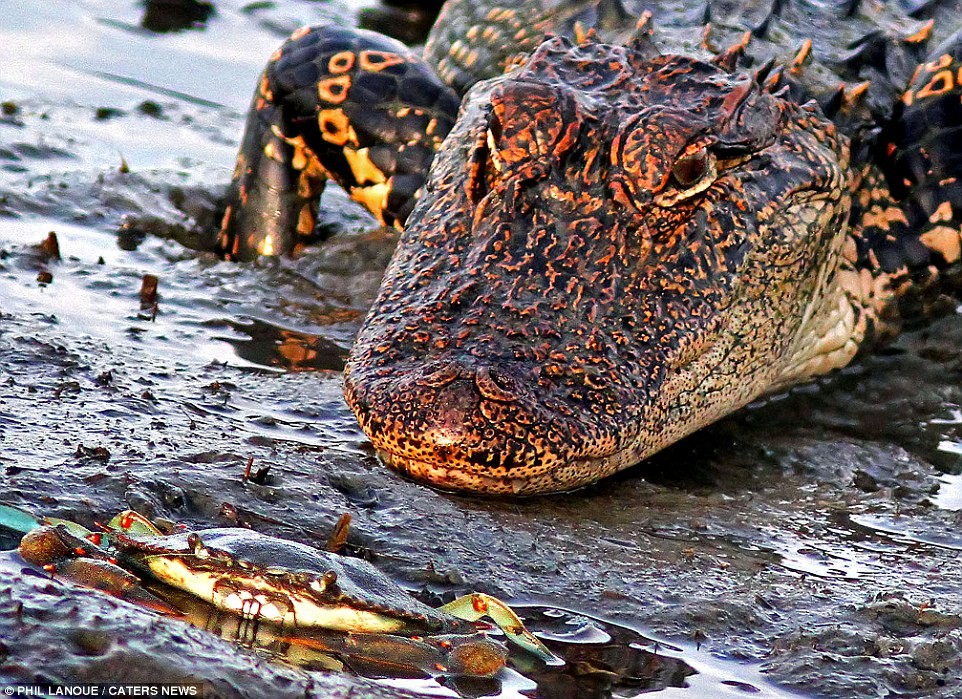
[[[348,402],[385,462],[436,487],[564,489],[557,477],[577,460],[566,445],[590,443],[580,422],[502,367],[448,361],[375,373],[347,371]]]

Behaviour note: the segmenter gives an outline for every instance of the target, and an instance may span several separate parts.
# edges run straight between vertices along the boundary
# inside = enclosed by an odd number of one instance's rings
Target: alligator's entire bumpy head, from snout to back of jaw
[[[347,400],[417,480],[537,493],[847,363],[847,160],[752,75],[550,39],[466,96]]]

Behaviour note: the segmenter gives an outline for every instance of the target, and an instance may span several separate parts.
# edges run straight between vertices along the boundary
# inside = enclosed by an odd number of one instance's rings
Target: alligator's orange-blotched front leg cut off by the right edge
[[[918,66],[876,151],[856,183],[850,286],[885,340],[962,297],[962,31]]]

